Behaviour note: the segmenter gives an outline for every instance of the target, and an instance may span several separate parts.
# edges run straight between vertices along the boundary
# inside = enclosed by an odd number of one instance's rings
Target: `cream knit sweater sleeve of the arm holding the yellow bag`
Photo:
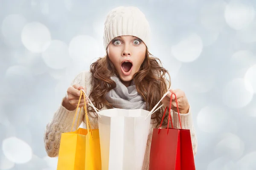
[[[71,82],[71,85],[79,84],[81,86],[82,78],[85,76],[83,72],[78,74],[75,79]],[[74,111],[69,111],[62,106],[62,102],[58,107],[57,111],[55,111],[52,120],[46,125],[44,131],[44,147],[49,157],[56,157],[58,156],[60,140],[61,140],[61,133],[70,132],[74,116],[76,114],[76,109]],[[76,130],[77,119],[79,116],[80,108],[78,109],[78,113],[76,114],[76,119],[74,123],[74,127],[72,131]],[[81,115],[79,117],[78,127],[81,125],[83,118],[83,108],[81,110]]]

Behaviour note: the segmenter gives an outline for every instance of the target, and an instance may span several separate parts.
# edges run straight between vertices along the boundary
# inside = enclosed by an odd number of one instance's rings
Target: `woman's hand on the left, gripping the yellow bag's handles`
[[[83,89],[84,92],[86,93],[86,88],[83,88],[82,86],[77,85],[77,84],[70,86],[67,89],[67,94],[62,102],[62,105],[64,106],[64,108],[66,108],[69,111],[73,111],[77,108],[79,97],[81,94],[81,92],[80,92],[81,89]],[[87,97],[85,96],[85,104],[87,105],[88,102],[89,101],[88,101]],[[84,98],[82,97],[80,100],[79,108],[81,108],[83,106],[84,106]]]

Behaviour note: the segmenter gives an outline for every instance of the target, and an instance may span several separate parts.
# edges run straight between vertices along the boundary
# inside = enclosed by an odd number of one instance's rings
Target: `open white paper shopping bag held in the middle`
[[[164,94],[162,99],[170,92]],[[87,96],[88,98],[88,96]],[[162,99],[157,103],[162,101]],[[99,138],[102,170],[141,170],[148,140],[151,110],[113,108],[99,111]]]

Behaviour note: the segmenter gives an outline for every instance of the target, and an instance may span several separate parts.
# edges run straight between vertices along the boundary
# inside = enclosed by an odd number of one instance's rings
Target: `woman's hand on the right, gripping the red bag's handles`
[[[184,91],[181,91],[180,89],[170,90],[171,93],[175,93],[177,96],[177,103],[179,107],[180,113],[188,113],[189,112],[189,101],[186,98],[186,95]],[[170,106],[170,99],[171,99],[171,93],[167,94],[163,98],[163,104],[166,105],[168,108]],[[175,95],[172,95],[172,110],[177,112],[177,105],[175,102]]]

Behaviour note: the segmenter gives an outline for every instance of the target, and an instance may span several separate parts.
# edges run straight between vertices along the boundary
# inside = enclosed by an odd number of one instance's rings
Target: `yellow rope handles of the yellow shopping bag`
[[[77,107],[76,107],[76,114],[77,114],[77,111],[78,111],[78,108],[79,108],[79,104],[80,104],[80,101],[81,101],[81,97],[83,96],[84,97],[84,113],[85,113],[85,117],[86,117],[86,127],[87,127],[87,130],[90,130],[92,129],[91,128],[91,125],[90,125],[90,121],[89,121],[89,117],[87,115],[87,108],[86,108],[86,104],[85,104],[85,96],[84,96],[84,91],[80,90],[80,96],[79,96],[79,101],[78,101],[78,104],[77,104]],[[74,123],[75,123],[75,120],[76,120],[76,114],[74,116],[74,119],[73,119],[73,123],[72,123],[72,127],[71,127],[71,130],[70,132],[73,130],[73,127],[74,127]],[[80,114],[81,114],[81,109],[79,111],[79,115],[78,115],[78,119],[77,119],[77,124],[76,124],[76,130],[78,128],[78,122],[79,122],[79,117],[80,117]],[[90,129],[89,129],[89,126],[90,126]],[[91,131],[91,134],[93,135],[92,131]],[[89,136],[90,137],[90,136]]]

